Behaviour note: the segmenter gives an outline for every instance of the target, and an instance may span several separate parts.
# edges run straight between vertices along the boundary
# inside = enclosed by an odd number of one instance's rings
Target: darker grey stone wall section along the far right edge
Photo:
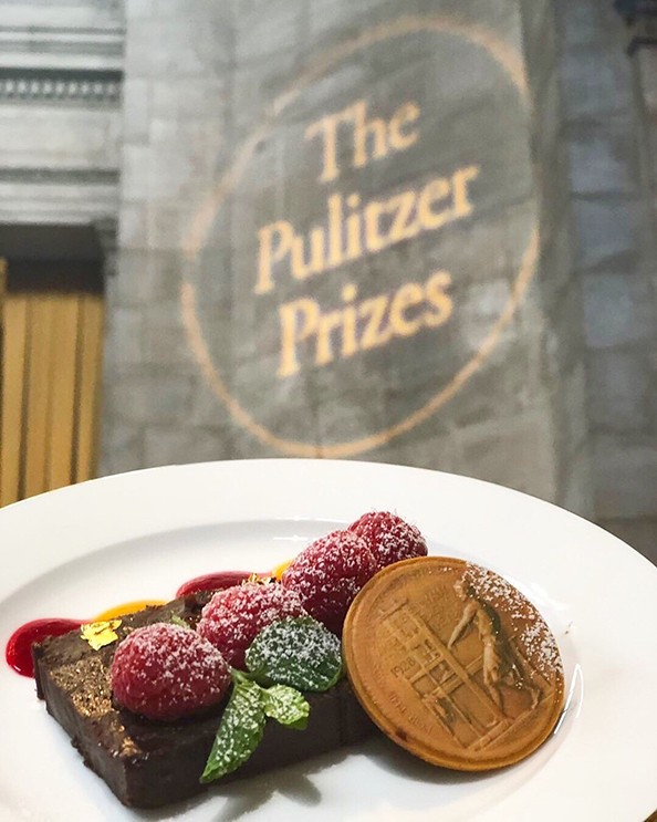
[[[559,0],[595,518],[657,560],[655,53],[612,3]]]

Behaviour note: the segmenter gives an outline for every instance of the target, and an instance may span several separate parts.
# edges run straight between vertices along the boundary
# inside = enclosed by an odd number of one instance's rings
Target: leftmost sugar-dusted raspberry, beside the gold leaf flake
[[[158,622],[128,634],[112,660],[112,689],[124,708],[171,720],[219,703],[230,684],[226,660],[196,631]]]

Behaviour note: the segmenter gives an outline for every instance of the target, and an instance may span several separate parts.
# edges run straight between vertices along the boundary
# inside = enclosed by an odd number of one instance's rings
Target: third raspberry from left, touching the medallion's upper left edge
[[[376,559],[351,531],[334,531],[305,548],[281,579],[311,616],[340,635],[354,596],[377,571]]]

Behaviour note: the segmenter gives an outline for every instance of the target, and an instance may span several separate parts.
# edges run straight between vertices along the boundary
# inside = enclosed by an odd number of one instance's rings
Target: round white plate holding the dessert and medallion
[[[185,580],[264,570],[372,509],[416,522],[431,553],[484,564],[554,631],[567,706],[524,762],[450,773],[385,740],[227,785],[175,812],[125,810],[0,669],[0,819],[644,820],[657,809],[657,569],[588,522],[447,474],[366,462],[248,460],[109,477],[0,510],[0,641],[41,616],[170,599]]]

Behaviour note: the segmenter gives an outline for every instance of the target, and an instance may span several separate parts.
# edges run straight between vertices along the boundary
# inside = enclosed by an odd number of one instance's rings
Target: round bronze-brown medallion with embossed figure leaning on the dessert
[[[534,751],[563,707],[554,636],[507,580],[445,556],[398,562],[346,617],[348,678],[395,742],[434,764],[501,768]]]

